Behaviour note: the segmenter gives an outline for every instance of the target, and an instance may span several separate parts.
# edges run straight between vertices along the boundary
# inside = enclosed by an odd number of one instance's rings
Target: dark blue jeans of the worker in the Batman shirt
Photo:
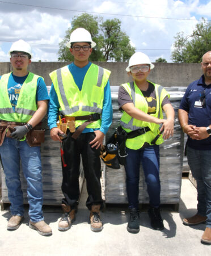
[[[161,183],[159,179],[159,145],[149,146],[137,150],[126,148],[126,191],[129,208],[138,209],[138,184],[140,164],[145,174],[150,206],[158,208],[160,205]]]

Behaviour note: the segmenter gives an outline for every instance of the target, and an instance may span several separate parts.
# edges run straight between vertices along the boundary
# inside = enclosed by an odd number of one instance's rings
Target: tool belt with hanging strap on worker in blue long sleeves
[[[64,116],[66,123],[68,121],[76,121],[76,120],[86,120],[82,125],[78,127],[78,129],[73,133],[71,136],[73,139],[77,139],[79,135],[81,135],[82,131],[87,127],[88,124],[93,123],[96,120],[100,119],[100,114],[94,113],[91,115],[86,115],[86,116]]]

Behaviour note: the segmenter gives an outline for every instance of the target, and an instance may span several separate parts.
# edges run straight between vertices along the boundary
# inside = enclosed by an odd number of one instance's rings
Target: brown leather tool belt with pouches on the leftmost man
[[[10,134],[14,131],[14,127],[22,126],[27,123],[12,122],[0,120],[0,146],[6,137],[11,137]],[[26,141],[29,146],[40,146],[44,142],[45,130],[41,129],[41,124],[36,125],[31,131],[26,134]]]

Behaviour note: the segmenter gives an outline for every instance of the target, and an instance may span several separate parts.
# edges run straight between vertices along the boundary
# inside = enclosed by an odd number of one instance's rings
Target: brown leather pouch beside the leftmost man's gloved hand
[[[29,146],[40,146],[45,141],[45,130],[32,129],[26,135],[26,141]]]

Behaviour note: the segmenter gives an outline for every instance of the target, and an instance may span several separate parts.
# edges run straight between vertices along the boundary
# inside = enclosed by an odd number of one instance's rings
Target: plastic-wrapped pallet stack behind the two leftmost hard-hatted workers
[[[50,87],[48,87],[49,91]],[[43,204],[45,205],[59,205],[61,204],[64,195],[61,191],[62,184],[62,167],[61,167],[61,153],[60,142],[53,141],[50,138],[50,131],[47,125],[47,116],[44,118],[42,128],[45,129],[45,142],[41,144],[41,163],[43,174]],[[1,164],[0,164],[1,170]],[[80,165],[79,186],[80,191],[83,184],[83,167],[82,161]],[[22,191],[24,196],[24,203],[27,201],[27,182],[23,177],[22,170],[20,170],[20,180],[22,181]],[[2,202],[9,203],[7,196],[7,187],[5,183],[5,174],[2,171]]]

